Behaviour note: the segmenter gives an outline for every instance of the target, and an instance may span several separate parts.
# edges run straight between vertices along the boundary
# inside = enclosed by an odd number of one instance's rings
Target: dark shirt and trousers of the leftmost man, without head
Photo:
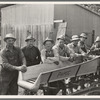
[[[2,67],[0,72],[0,94],[17,94],[18,93],[18,71],[15,67],[26,65],[24,54],[19,47],[4,48],[1,52]],[[13,92],[12,92],[13,91]],[[11,95],[10,94],[10,95]]]

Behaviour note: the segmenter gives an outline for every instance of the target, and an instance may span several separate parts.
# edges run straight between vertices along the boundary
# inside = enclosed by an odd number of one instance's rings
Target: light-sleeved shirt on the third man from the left
[[[50,51],[43,49],[41,51],[42,62],[44,62],[47,59],[47,57],[53,57],[53,59],[55,59],[55,61],[59,60],[59,55],[57,53],[57,50],[54,50],[54,49],[51,49]]]

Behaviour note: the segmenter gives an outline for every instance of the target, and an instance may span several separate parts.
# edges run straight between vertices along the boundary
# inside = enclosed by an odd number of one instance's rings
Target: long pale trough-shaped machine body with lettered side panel
[[[40,84],[93,73],[96,72],[98,65],[99,57],[96,57],[90,61],[69,66],[65,64],[40,64],[29,67],[28,71],[23,75],[21,72],[19,72],[18,85],[25,89],[29,89],[36,92],[39,89]],[[34,84],[25,81],[33,77],[37,77]]]

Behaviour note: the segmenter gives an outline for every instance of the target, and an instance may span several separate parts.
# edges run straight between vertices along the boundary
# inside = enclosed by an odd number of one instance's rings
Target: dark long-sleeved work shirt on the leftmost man
[[[26,64],[24,54],[19,47],[13,47],[12,52],[8,48],[5,48],[1,51],[1,59],[3,68],[8,71],[14,71],[14,66]]]

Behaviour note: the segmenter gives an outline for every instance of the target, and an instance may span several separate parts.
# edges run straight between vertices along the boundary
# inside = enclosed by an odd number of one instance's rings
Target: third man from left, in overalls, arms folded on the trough
[[[44,49],[41,51],[41,58],[43,63],[55,63],[59,64],[59,54],[56,49],[53,49],[54,41],[50,38],[46,38],[43,43]],[[48,67],[48,66],[47,66]],[[49,87],[55,87],[57,89],[49,89],[47,92],[44,91],[44,94],[47,95],[56,95],[60,89],[62,89],[62,94],[66,94],[66,86],[63,81],[51,82],[48,84]]]

